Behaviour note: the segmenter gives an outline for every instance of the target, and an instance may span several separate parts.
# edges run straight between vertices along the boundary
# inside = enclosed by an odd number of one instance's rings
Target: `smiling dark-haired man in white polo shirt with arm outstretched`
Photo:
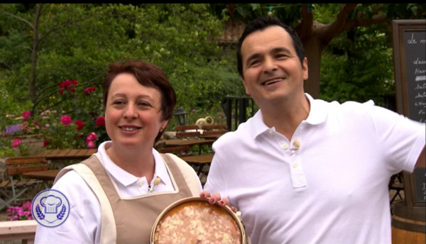
[[[425,167],[425,124],[373,101],[312,99],[302,43],[276,18],[249,24],[237,57],[260,109],[213,144],[201,196],[229,199],[252,243],[391,243],[388,182]]]

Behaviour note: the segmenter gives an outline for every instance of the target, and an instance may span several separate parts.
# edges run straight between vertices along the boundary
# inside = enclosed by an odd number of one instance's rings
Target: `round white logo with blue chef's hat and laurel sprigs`
[[[60,226],[70,214],[70,203],[62,192],[45,189],[34,197],[31,214],[35,221],[42,226]]]

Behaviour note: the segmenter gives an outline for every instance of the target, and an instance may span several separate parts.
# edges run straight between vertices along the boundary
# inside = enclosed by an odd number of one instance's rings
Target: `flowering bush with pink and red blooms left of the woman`
[[[75,79],[65,79],[53,92],[47,105],[38,110],[19,111],[13,122],[0,131],[0,153],[25,149],[20,138],[39,135],[48,149],[96,148],[97,143],[109,140],[105,131],[102,92],[97,87],[84,87]],[[50,104],[58,104],[51,107]],[[55,109],[55,110],[53,110]],[[15,140],[16,139],[16,140]],[[6,148],[8,147],[8,148]],[[22,154],[21,154],[22,155]]]

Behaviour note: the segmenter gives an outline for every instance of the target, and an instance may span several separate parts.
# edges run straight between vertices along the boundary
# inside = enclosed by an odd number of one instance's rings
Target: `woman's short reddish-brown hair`
[[[105,108],[107,107],[108,92],[109,87],[111,87],[111,82],[121,73],[133,74],[139,84],[145,87],[158,89],[161,94],[161,111],[163,112],[161,120],[169,121],[172,118],[176,106],[176,93],[172,84],[170,84],[167,77],[165,77],[160,67],[142,60],[128,60],[122,63],[109,64],[109,70],[104,79],[103,103]],[[163,131],[158,133],[155,142],[163,135]]]

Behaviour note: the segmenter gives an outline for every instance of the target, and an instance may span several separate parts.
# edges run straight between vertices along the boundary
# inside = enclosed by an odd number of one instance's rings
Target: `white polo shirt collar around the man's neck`
[[[315,100],[312,98],[310,94],[305,93],[306,98],[310,102],[310,111],[309,115],[306,118],[306,123],[310,123],[312,125],[317,125],[323,123],[327,118],[327,110],[325,110],[324,104],[321,100]],[[261,113],[261,109],[259,109],[254,116],[251,118],[251,135],[253,139],[255,139],[261,133],[265,133],[266,131],[273,130],[275,131],[275,127],[269,128],[263,122],[263,116]]]

